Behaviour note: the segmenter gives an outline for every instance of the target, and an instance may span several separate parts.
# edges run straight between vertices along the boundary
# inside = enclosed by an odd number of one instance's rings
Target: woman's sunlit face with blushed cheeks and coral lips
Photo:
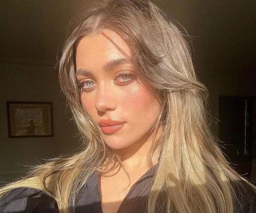
[[[82,104],[110,148],[145,143],[160,115],[155,90],[137,79],[131,49],[122,37],[107,29],[103,33],[84,37],[77,47]]]

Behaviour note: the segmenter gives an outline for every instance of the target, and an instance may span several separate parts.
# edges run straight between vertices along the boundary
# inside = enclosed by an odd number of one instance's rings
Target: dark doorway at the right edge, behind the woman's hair
[[[256,97],[219,97],[219,136],[222,151],[234,169],[250,180],[256,159]]]

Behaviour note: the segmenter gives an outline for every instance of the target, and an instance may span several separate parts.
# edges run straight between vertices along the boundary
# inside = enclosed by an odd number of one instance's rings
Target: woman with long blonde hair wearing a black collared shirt
[[[81,16],[60,82],[83,150],[2,188],[0,212],[256,212],[210,133],[188,45],[151,2]]]

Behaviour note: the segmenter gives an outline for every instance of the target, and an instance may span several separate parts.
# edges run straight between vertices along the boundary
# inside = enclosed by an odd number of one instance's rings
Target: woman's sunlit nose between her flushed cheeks
[[[116,96],[111,86],[111,83],[102,83],[101,85],[98,85],[95,108],[97,109],[97,111],[101,112],[115,110]]]

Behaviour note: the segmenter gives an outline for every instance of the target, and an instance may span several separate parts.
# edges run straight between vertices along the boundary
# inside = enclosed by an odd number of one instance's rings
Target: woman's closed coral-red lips
[[[116,133],[116,131],[119,131],[124,126],[125,121],[103,119],[103,120],[100,120],[98,124],[101,127],[101,130],[103,131],[104,134],[113,134],[113,133]]]

